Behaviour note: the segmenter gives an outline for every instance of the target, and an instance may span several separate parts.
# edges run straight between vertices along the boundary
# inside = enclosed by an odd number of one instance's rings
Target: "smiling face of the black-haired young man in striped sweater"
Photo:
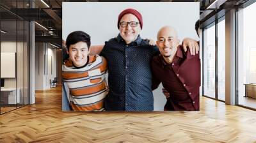
[[[87,62],[88,56],[88,46],[87,43],[79,41],[68,47],[68,54],[70,60],[73,62],[74,66],[81,67]]]

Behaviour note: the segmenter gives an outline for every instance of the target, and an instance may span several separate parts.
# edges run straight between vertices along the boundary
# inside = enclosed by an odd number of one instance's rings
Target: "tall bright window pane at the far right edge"
[[[256,3],[237,12],[238,104],[256,109]]]

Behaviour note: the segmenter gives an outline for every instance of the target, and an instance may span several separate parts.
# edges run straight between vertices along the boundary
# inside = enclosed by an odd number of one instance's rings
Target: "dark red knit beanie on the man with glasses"
[[[118,20],[117,20],[117,27],[119,29],[119,23],[120,23],[120,20],[122,19],[122,17],[126,14],[129,14],[131,13],[132,15],[134,15],[135,17],[137,17],[137,19],[140,21],[140,28],[142,29],[142,26],[143,26],[143,20],[142,20],[142,16],[140,14],[139,11],[137,10],[134,10],[132,8],[128,8],[124,11],[122,11],[119,15],[118,15]]]

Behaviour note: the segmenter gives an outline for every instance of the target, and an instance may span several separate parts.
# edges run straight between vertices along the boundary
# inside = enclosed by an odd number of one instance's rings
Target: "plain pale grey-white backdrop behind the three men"
[[[180,42],[185,37],[198,40],[195,22],[199,19],[199,2],[63,2],[62,38],[72,31],[84,31],[92,45],[102,45],[118,35],[117,18],[126,8],[140,11],[143,17],[141,38],[156,40],[157,31],[166,25],[177,29]],[[163,110],[166,102],[162,86],[154,91],[154,110]]]

